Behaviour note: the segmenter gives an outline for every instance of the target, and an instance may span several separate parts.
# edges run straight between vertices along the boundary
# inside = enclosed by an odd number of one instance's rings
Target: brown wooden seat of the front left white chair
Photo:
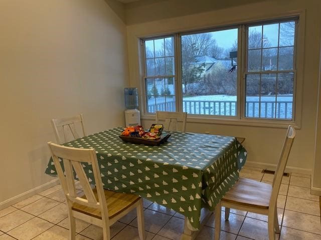
[[[93,192],[96,196],[96,199],[98,199],[96,187],[93,188]],[[140,196],[130,194],[130,193],[120,193],[120,192],[110,191],[106,189],[104,189],[104,193],[105,193],[106,202],[107,202],[109,219],[119,214],[123,210],[127,209],[128,207],[130,207],[140,199]],[[83,195],[81,197],[86,198],[86,195]],[[75,202],[72,204],[71,209],[102,219],[101,211],[100,209],[97,209],[97,208],[87,207]]]

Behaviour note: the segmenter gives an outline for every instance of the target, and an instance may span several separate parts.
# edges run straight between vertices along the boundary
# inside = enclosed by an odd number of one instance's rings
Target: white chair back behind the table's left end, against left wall
[[[59,119],[51,120],[52,127],[57,138],[58,144],[63,144],[68,141],[68,136],[73,137],[72,140],[75,140],[80,137],[76,130],[76,124],[80,123],[82,129],[82,136],[86,136],[85,126],[84,126],[84,117],[81,114],[76,116],[64,117]],[[59,129],[62,128],[63,136],[59,134]]]

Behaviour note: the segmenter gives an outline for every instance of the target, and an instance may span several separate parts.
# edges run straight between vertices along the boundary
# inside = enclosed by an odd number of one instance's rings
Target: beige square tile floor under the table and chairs
[[[244,167],[241,176],[271,183],[273,175],[261,169]],[[281,225],[279,239],[321,240],[319,197],[310,194],[310,176],[291,173],[283,177],[278,205]],[[81,193],[81,189],[79,189]],[[0,210],[0,240],[68,239],[68,218],[60,185]],[[180,239],[184,217],[156,203],[144,200],[146,240]],[[223,209],[224,210],[224,209]],[[223,219],[221,239],[268,239],[267,217],[231,209],[229,221]],[[138,239],[136,213],[130,212],[111,227],[113,240]],[[77,240],[102,239],[100,227],[77,221]],[[214,217],[205,224],[197,239],[214,239]]]

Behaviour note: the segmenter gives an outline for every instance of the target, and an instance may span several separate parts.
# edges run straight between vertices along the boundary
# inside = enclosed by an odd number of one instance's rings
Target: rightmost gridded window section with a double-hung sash
[[[245,116],[292,119],[295,21],[249,25]]]

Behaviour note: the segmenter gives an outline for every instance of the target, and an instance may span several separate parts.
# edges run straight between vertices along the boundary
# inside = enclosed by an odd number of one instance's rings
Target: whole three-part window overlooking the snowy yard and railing
[[[145,112],[294,120],[297,21],[142,39]]]

